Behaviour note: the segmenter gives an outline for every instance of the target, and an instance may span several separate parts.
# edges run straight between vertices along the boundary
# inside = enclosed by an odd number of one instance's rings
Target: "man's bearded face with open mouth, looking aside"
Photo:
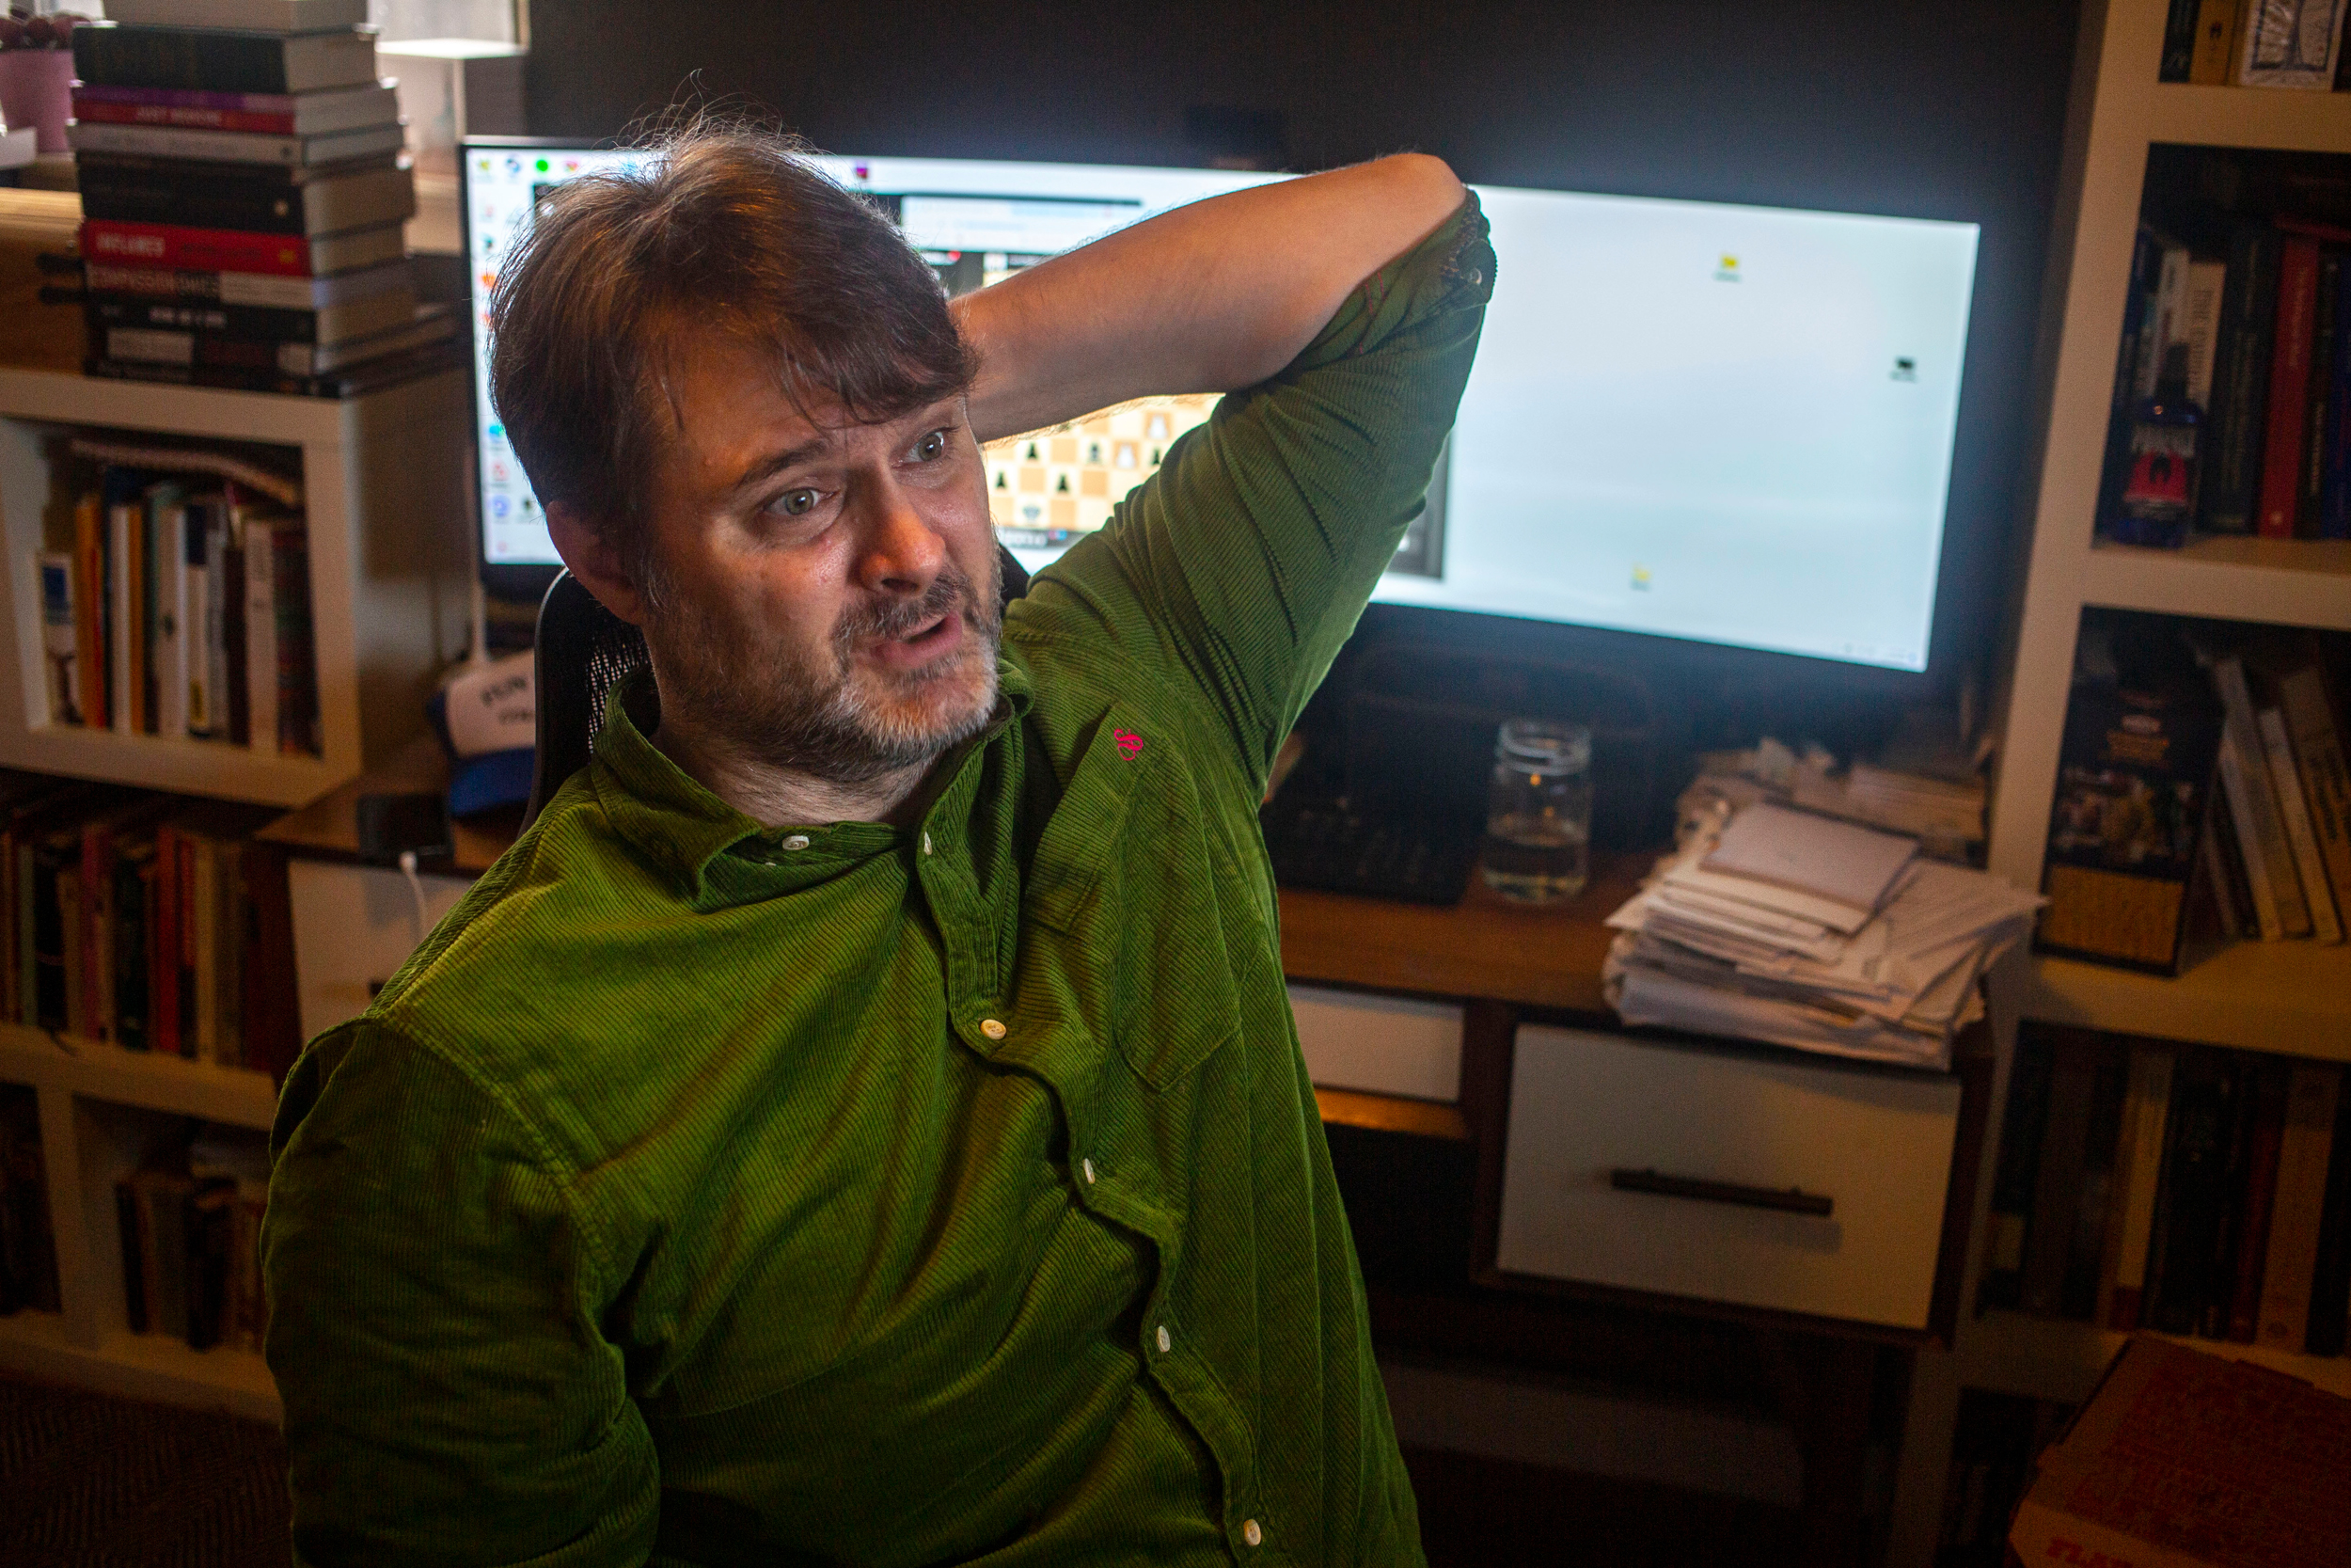
[[[773,360],[672,343],[644,639],[672,715],[830,783],[922,766],[997,701],[999,567],[962,397],[802,414]]]

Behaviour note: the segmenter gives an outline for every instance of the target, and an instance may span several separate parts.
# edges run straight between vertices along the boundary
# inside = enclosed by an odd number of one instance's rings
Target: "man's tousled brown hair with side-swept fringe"
[[[489,303],[489,400],[531,489],[637,571],[654,567],[642,512],[686,331],[773,353],[795,404],[853,423],[976,371],[938,275],[797,139],[694,120],[647,153],[545,195]]]

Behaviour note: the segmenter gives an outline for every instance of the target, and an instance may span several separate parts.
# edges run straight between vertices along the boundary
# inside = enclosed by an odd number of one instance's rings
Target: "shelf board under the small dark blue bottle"
[[[2182,550],[2099,543],[2083,569],[2083,602],[2351,630],[2351,541],[2203,534]]]

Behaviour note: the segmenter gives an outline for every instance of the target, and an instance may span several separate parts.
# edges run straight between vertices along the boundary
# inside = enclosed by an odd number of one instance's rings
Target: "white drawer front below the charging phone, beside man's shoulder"
[[[418,877],[426,919],[416,919],[409,879],[376,865],[289,860],[294,903],[294,985],[301,994],[301,1037],[357,1018],[374,987],[393,978],[409,954],[473,886],[465,877]]]

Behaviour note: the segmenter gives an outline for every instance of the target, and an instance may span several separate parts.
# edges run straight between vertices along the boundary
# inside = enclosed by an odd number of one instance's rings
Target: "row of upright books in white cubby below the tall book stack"
[[[226,451],[71,451],[96,482],[35,559],[49,724],[322,755],[301,487]]]

